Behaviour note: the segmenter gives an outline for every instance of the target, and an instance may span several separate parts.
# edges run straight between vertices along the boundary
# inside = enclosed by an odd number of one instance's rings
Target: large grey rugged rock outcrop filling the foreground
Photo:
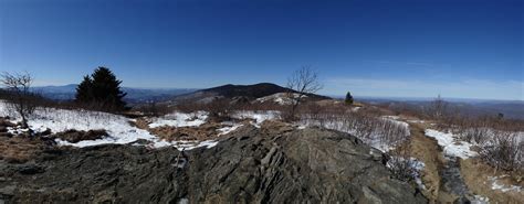
[[[99,146],[0,163],[14,203],[426,203],[353,136],[245,126],[211,149]],[[31,173],[30,176],[21,171]],[[32,171],[35,170],[35,171]]]

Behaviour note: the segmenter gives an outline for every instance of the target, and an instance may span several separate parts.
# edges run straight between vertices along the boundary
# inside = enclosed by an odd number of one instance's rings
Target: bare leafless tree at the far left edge
[[[29,73],[10,74],[4,72],[0,76],[0,82],[12,95],[10,105],[22,117],[22,128],[29,128],[28,117],[36,108],[34,96],[30,90],[33,77]]]

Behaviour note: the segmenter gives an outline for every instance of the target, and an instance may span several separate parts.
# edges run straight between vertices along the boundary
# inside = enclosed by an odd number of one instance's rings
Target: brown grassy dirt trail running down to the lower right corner
[[[444,155],[437,140],[427,137],[429,124],[408,122],[411,132],[412,157],[426,167],[421,173],[426,186],[423,194],[432,203],[524,203],[524,192],[493,190],[493,181],[504,186],[524,183],[522,175],[496,172],[478,158],[460,159]],[[516,174],[516,176],[515,176]],[[516,179],[515,179],[516,178]],[[505,183],[504,183],[505,182]]]

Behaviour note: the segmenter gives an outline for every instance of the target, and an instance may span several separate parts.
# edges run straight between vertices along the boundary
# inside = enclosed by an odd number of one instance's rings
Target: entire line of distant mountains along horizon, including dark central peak
[[[76,93],[76,84],[64,86],[40,86],[33,87],[33,92],[44,97],[56,100],[71,100]],[[130,88],[123,87],[127,93],[125,100],[128,103],[145,101],[167,101],[177,104],[178,101],[210,101],[216,98],[238,98],[256,99],[266,97],[277,93],[287,93],[290,89],[271,84],[260,83],[253,85],[223,85],[207,89],[195,88]],[[293,90],[292,90],[293,92]],[[329,97],[321,95],[310,95],[311,99],[328,99]],[[333,96],[333,98],[343,98],[342,96]],[[428,106],[434,98],[409,98],[409,97],[355,97],[357,100],[370,104],[395,104],[398,101],[410,104],[412,106]],[[524,119],[524,101],[523,100],[490,100],[490,99],[462,99],[462,98],[444,98],[453,106],[460,107],[462,111],[470,115],[495,115],[504,114],[507,118]]]

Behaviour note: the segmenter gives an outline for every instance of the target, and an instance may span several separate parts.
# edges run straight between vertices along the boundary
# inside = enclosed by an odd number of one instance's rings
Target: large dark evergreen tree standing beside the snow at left
[[[126,103],[123,100],[125,93],[120,90],[122,80],[106,67],[98,67],[76,88],[76,101],[95,104],[103,109],[123,110]]]

